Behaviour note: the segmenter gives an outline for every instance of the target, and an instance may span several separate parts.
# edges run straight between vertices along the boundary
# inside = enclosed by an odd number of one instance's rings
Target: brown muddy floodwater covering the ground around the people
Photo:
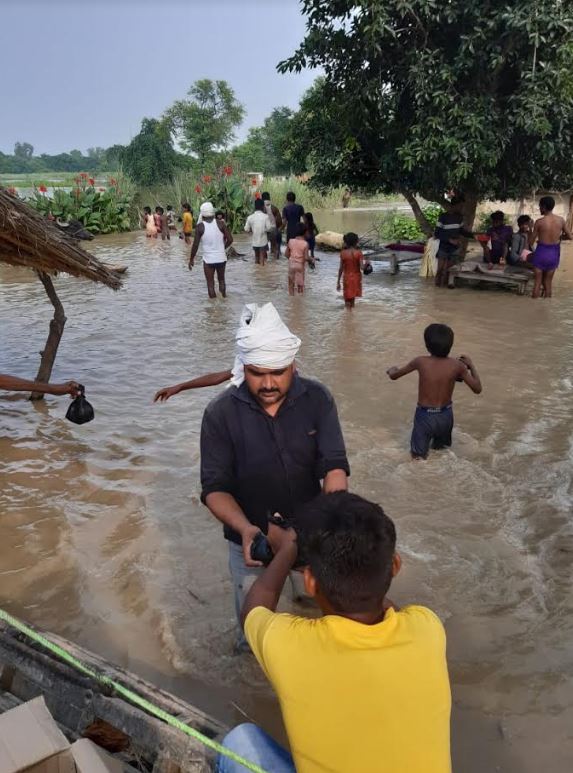
[[[316,216],[336,230],[370,219]],[[397,276],[377,264],[346,312],[334,255],[300,298],[287,295],[284,260],[232,260],[228,299],[210,302],[179,240],[133,233],[91,248],[129,270],[117,293],[56,280],[68,322],[53,380],[85,384],[95,421],[65,421],[66,398],[0,395],[2,606],[229,723],[248,716],[280,735],[265,678],[232,655],[225,543],[199,501],[201,416],[220,387],[152,403],[159,387],[230,367],[242,305],[272,301],[303,339],[300,370],[335,395],[352,489],[396,521],[392,597],[445,621],[455,770],[570,770],[573,253],[551,301],[437,290],[417,263]],[[0,372],[34,375],[50,316],[31,272],[0,268]],[[421,354],[436,321],[452,325],[484,392],[458,386],[452,450],[412,462],[416,378],[385,370]]]

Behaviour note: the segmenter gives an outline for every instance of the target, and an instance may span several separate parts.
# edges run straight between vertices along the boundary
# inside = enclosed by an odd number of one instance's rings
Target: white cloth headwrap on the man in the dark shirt
[[[293,335],[272,303],[259,306],[248,303],[241,314],[235,335],[237,355],[231,384],[239,387],[245,380],[245,365],[260,368],[286,368],[294,362],[301,340]]]

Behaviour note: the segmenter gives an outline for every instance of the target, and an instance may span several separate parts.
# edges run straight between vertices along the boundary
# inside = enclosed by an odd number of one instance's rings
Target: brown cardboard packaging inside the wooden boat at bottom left
[[[44,699],[0,714],[0,773],[123,773],[119,760],[87,738],[72,746]]]

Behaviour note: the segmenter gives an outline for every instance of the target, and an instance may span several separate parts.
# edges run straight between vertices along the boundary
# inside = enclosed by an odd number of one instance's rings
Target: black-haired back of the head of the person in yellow
[[[392,581],[396,528],[380,505],[357,494],[321,494],[296,514],[300,554],[336,612],[381,607]]]

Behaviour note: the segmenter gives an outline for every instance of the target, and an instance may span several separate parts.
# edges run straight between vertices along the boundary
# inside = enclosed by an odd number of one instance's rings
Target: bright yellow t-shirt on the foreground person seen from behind
[[[450,773],[446,636],[429,609],[363,625],[256,607],[245,635],[278,695],[297,773]]]

